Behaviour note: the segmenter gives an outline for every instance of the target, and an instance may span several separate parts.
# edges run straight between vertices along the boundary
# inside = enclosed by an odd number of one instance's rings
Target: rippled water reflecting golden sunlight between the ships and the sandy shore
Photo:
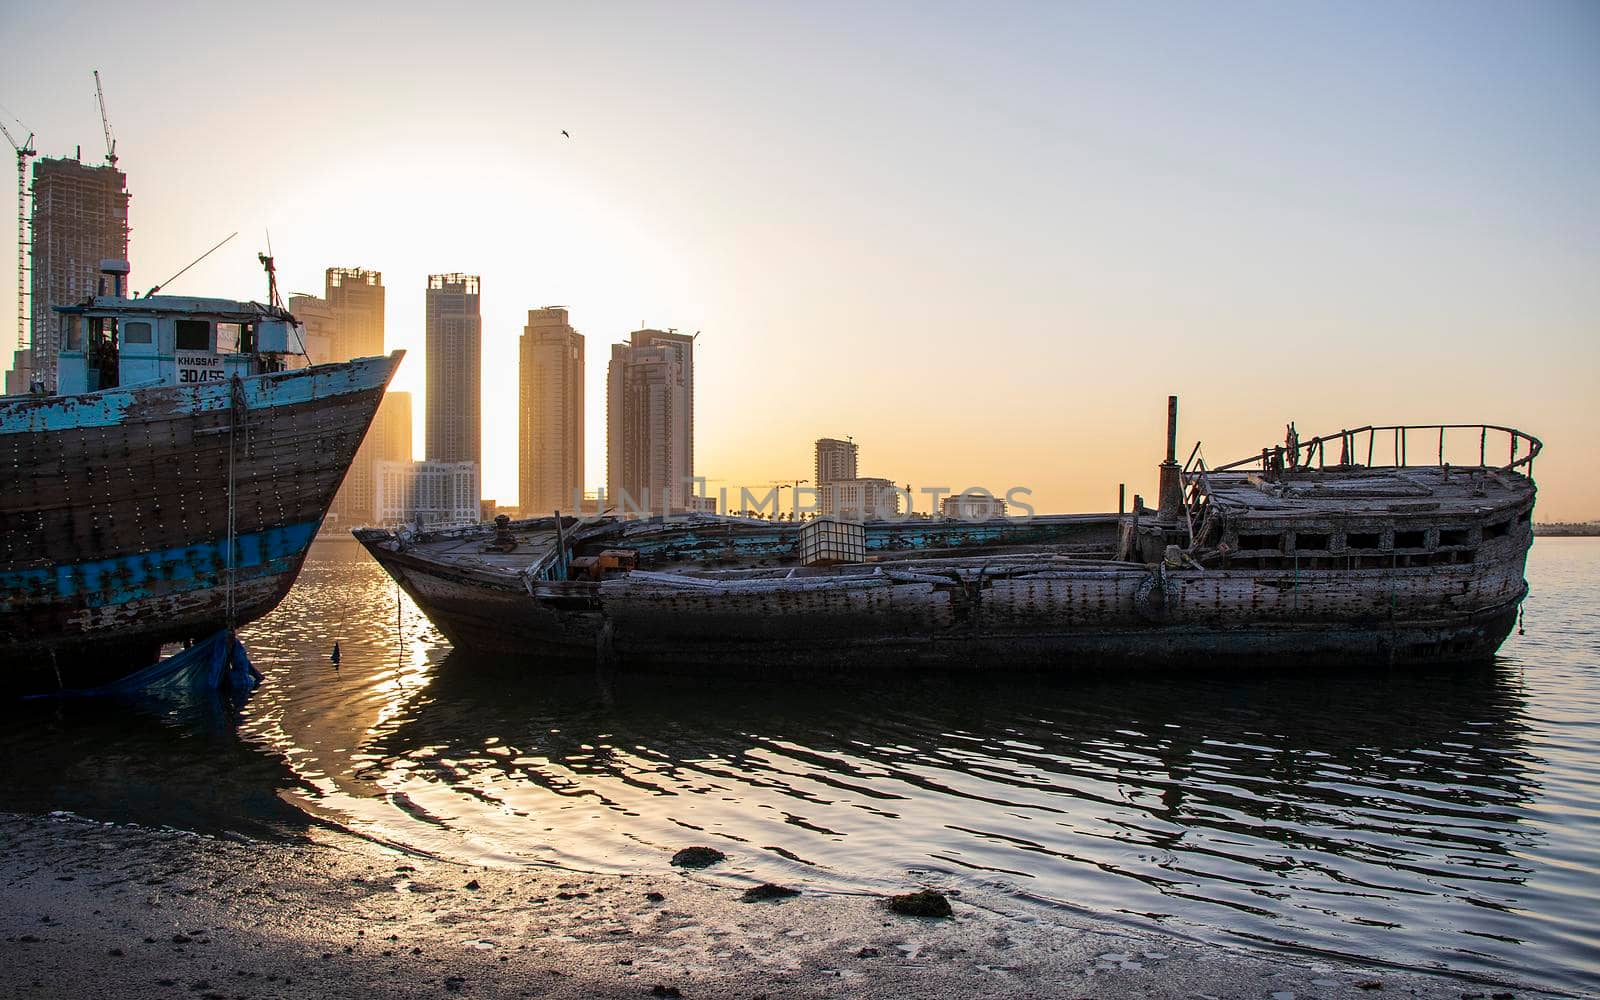
[[[454,654],[318,544],[245,632],[243,707],[13,712],[6,805],[587,870],[712,843],[720,877],[1592,990],[1600,541],[1541,539],[1528,576],[1526,635],[1470,670],[603,686]]]

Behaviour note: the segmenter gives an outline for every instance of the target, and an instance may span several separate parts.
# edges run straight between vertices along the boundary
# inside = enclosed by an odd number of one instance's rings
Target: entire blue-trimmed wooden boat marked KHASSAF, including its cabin
[[[403,352],[293,368],[270,298],[58,307],[58,392],[0,397],[0,686],[101,683],[288,592]]]

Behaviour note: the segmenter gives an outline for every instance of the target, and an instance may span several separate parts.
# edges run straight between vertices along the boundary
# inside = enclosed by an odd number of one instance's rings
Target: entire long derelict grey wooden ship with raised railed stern
[[[1408,462],[1406,446],[1426,437],[1432,451],[1435,435],[1437,461]],[[1446,443],[1477,461],[1448,464]],[[1390,462],[1374,464],[1390,445]],[[1480,424],[1362,427],[1291,432],[1216,469],[1195,445],[1179,467],[1174,398],[1155,510],[501,518],[357,538],[451,643],[549,661],[752,672],[1472,661],[1493,656],[1526,594],[1539,446]],[[1509,448],[1507,461],[1491,462],[1491,448]]]

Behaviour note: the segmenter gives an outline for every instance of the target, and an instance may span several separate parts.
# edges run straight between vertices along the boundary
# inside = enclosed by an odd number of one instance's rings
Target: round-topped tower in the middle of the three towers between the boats
[[[573,510],[584,490],[584,338],[565,309],[530,309],[520,354],[518,506]]]

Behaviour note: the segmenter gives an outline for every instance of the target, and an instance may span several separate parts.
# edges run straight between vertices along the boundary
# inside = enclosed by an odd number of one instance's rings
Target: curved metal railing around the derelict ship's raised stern
[[[1528,478],[1533,478],[1533,459],[1539,456],[1544,442],[1525,430],[1499,424],[1384,424],[1355,427],[1304,440],[1290,435],[1283,445],[1262,448],[1261,454],[1218,466],[1210,469],[1210,472],[1261,470],[1275,475],[1296,469],[1326,469],[1330,466],[1328,445],[1336,446],[1334,461],[1331,462],[1334,467],[1360,464],[1363,454],[1362,445],[1366,446],[1365,467],[1368,469],[1382,467],[1378,464],[1382,459],[1390,459],[1390,467],[1395,469],[1437,467],[1446,464],[1446,454],[1461,456],[1462,438],[1467,440],[1467,459],[1470,459],[1474,437],[1477,438],[1477,466],[1467,461],[1454,462],[1454,467],[1494,472],[1520,470]],[[1411,459],[1410,445],[1413,438],[1421,438],[1419,445],[1427,448],[1424,454],[1432,461]],[[1195,451],[1198,453],[1198,445],[1195,445]],[[1498,458],[1499,454],[1506,454],[1504,462],[1491,461],[1491,456]],[[1190,478],[1187,470],[1184,478],[1186,482]],[[1200,478],[1203,478],[1203,474]]]

